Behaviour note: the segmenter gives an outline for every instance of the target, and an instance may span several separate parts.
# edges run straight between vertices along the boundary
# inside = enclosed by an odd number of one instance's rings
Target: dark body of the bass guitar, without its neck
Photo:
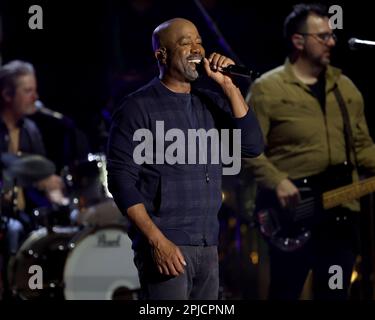
[[[323,193],[352,183],[352,170],[352,166],[342,164],[315,176],[292,180],[301,196],[294,209],[282,208],[274,190],[259,189],[255,212],[261,233],[283,251],[301,248],[310,239],[314,225],[327,214]]]

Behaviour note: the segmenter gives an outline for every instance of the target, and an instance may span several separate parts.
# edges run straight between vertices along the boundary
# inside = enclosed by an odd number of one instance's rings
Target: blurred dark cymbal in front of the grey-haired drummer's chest
[[[3,173],[7,179],[15,179],[17,186],[26,187],[55,173],[54,163],[43,156],[11,153],[1,155]]]

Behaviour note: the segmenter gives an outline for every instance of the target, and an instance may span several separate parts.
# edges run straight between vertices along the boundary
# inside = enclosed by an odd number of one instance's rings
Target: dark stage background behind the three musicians
[[[2,0],[2,63],[13,59],[32,62],[37,71],[40,99],[46,107],[74,121],[80,130],[79,144],[87,141],[84,151],[103,152],[111,110],[123,95],[157,74],[151,33],[164,20],[173,17],[192,20],[200,30],[207,53],[223,52],[260,73],[284,62],[282,24],[298,1],[274,4],[267,0],[204,0],[200,3],[232,52],[226,52],[221,46],[196,1]],[[43,30],[28,27],[28,9],[34,4],[43,9]],[[337,31],[332,64],[342,68],[363,93],[370,132],[375,137],[375,50],[351,51],[347,45],[350,37],[375,40],[374,12],[366,1],[326,4],[338,4],[343,9],[343,30]],[[246,94],[249,84],[246,81],[239,84]],[[56,148],[60,135],[58,126],[54,129],[46,137],[51,148]],[[59,151],[50,152],[59,158]],[[225,181],[227,198],[221,212],[224,221],[221,257],[223,296],[228,299],[263,298],[265,294],[265,248],[249,223],[254,191],[251,181],[247,173]],[[371,221],[366,220],[365,224],[372,230]],[[366,229],[365,237],[369,232]],[[370,249],[368,239],[365,261],[362,261],[366,272],[362,282],[354,287],[355,298],[372,297]]]

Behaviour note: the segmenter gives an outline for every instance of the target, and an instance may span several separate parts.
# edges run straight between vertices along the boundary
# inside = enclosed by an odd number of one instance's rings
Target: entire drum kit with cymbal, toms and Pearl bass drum
[[[1,156],[1,166],[0,241],[4,242],[6,222],[15,216],[5,205],[8,201],[3,201],[5,195],[14,187],[33,185],[55,168],[41,156],[10,154]],[[7,281],[10,296],[25,300],[137,299],[140,284],[128,221],[108,191],[105,156],[89,154],[74,168],[64,169],[61,176],[69,202],[33,210],[35,229],[7,259],[3,281]],[[42,271],[38,288],[30,285],[35,266]]]

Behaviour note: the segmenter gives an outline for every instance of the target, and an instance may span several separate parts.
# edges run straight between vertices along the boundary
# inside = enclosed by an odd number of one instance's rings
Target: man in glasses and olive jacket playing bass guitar
[[[269,194],[277,197],[280,219],[283,213],[286,216],[285,209],[300,204],[302,190],[295,179],[310,181],[311,176],[331,173],[333,179],[319,183],[318,187],[325,187],[343,178],[344,172],[350,180],[358,180],[353,166],[375,174],[375,146],[364,117],[362,95],[349,78],[330,65],[336,37],[326,8],[296,5],[285,20],[284,35],[289,48],[285,64],[264,74],[250,90],[249,103],[267,141],[264,155],[246,160],[260,189],[271,190]],[[347,169],[332,174],[340,167]],[[299,208],[302,212],[302,204]],[[310,230],[301,229],[303,236],[311,232],[311,237],[304,245],[304,238],[296,238],[294,249],[287,248],[290,238],[270,241],[270,298],[298,299],[310,270],[315,299],[347,298],[358,253],[358,211],[359,202],[354,200],[329,212],[315,212],[315,217],[319,216],[316,223]],[[341,288],[329,285],[332,266],[343,271]]]

